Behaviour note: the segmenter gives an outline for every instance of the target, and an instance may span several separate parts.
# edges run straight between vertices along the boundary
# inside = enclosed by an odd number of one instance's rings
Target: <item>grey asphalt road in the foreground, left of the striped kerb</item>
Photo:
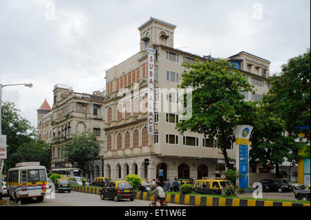
[[[100,200],[97,194],[89,194],[84,192],[62,192],[55,193],[55,199],[44,199],[43,202],[37,202],[35,199],[27,199],[21,201],[21,206],[149,206],[151,201],[135,199],[122,199],[113,201],[111,199]],[[16,206],[14,201],[10,201],[10,205]],[[159,205],[159,203],[158,203]],[[169,206],[185,206],[169,203]]]

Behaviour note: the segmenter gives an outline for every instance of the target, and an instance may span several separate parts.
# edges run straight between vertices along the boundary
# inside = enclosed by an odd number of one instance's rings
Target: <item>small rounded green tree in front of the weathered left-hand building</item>
[[[100,153],[100,143],[93,132],[73,134],[64,147],[66,161],[83,169],[84,162],[95,159]]]

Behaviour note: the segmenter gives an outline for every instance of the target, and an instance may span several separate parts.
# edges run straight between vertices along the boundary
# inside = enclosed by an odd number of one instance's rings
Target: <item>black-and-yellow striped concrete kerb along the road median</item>
[[[100,188],[87,188],[73,186],[73,191],[99,194]],[[136,192],[136,199],[153,201],[148,192]],[[256,199],[233,199],[223,197],[201,197],[185,194],[167,194],[166,201],[180,205],[190,206],[309,206],[307,203],[291,203],[285,201],[263,201]]]

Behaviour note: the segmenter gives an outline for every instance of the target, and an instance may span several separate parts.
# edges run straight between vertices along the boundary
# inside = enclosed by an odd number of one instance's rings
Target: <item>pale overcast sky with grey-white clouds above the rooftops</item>
[[[105,70],[139,51],[138,26],[150,17],[177,26],[175,48],[223,58],[244,50],[270,60],[271,73],[310,48],[310,0],[1,0],[0,83],[33,83],[3,88],[3,101],[37,126],[56,83],[104,88]]]

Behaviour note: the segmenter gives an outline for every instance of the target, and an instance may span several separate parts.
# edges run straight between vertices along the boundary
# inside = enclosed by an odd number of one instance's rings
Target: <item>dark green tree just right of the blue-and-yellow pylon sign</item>
[[[249,157],[251,163],[274,165],[276,176],[279,177],[279,164],[285,159],[295,164],[301,143],[295,141],[295,134],[286,134],[285,122],[274,114],[274,106],[265,101],[264,96],[263,101],[258,102],[260,105],[256,108],[255,117],[250,120],[254,129],[250,137]]]

